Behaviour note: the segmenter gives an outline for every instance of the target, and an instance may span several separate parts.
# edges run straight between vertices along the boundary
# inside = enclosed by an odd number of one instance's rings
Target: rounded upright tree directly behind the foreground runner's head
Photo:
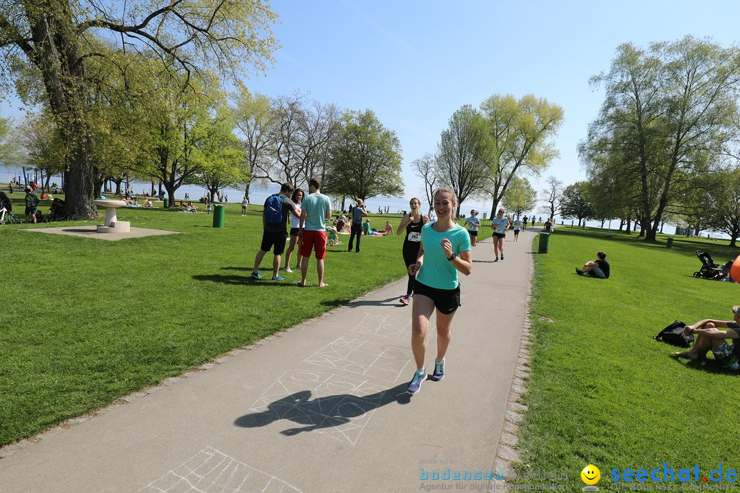
[[[437,178],[457,195],[460,205],[485,189],[488,177],[488,152],[491,152],[488,123],[472,106],[466,104],[451,116],[437,146]]]

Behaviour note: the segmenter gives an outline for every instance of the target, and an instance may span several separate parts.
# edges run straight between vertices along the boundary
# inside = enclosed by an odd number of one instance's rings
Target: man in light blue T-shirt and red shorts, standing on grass
[[[306,286],[306,275],[309,273],[309,257],[311,251],[316,252],[316,268],[319,274],[319,288],[326,288],[328,284],[323,282],[324,265],[326,256],[326,220],[332,219],[332,200],[320,191],[321,182],[318,178],[309,180],[309,194],[300,203],[302,210],[300,214],[300,228],[298,236],[301,239],[300,254],[303,260],[300,264],[302,279],[299,286]]]

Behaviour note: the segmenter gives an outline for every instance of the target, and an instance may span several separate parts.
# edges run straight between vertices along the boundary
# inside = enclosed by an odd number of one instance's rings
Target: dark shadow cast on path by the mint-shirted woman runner
[[[273,421],[285,419],[303,425],[280,432],[286,436],[342,426],[387,404],[394,402],[408,404],[411,401],[411,394],[408,393],[406,387],[407,384],[399,384],[391,389],[380,390],[361,397],[351,394],[335,394],[316,397],[313,400],[311,400],[310,390],[301,390],[267,404],[267,409],[263,412],[252,412],[237,418],[234,424],[241,428],[258,428],[271,424]]]

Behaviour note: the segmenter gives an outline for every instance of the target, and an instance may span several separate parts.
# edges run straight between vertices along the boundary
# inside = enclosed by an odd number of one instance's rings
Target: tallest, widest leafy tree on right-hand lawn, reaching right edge
[[[716,166],[733,135],[740,55],[691,36],[648,50],[622,44],[608,72],[592,78],[606,92],[580,146],[594,172],[633,183],[633,210],[645,239],[692,177]],[[616,158],[604,158],[613,154]]]

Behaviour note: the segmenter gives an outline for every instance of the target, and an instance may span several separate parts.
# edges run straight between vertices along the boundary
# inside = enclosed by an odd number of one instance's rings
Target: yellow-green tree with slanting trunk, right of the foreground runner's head
[[[562,125],[560,106],[545,98],[525,95],[492,95],[480,104],[488,121],[490,140],[488,179],[484,189],[493,197],[491,217],[506,194],[511,180],[528,171],[539,176],[559,152],[551,141]]]

